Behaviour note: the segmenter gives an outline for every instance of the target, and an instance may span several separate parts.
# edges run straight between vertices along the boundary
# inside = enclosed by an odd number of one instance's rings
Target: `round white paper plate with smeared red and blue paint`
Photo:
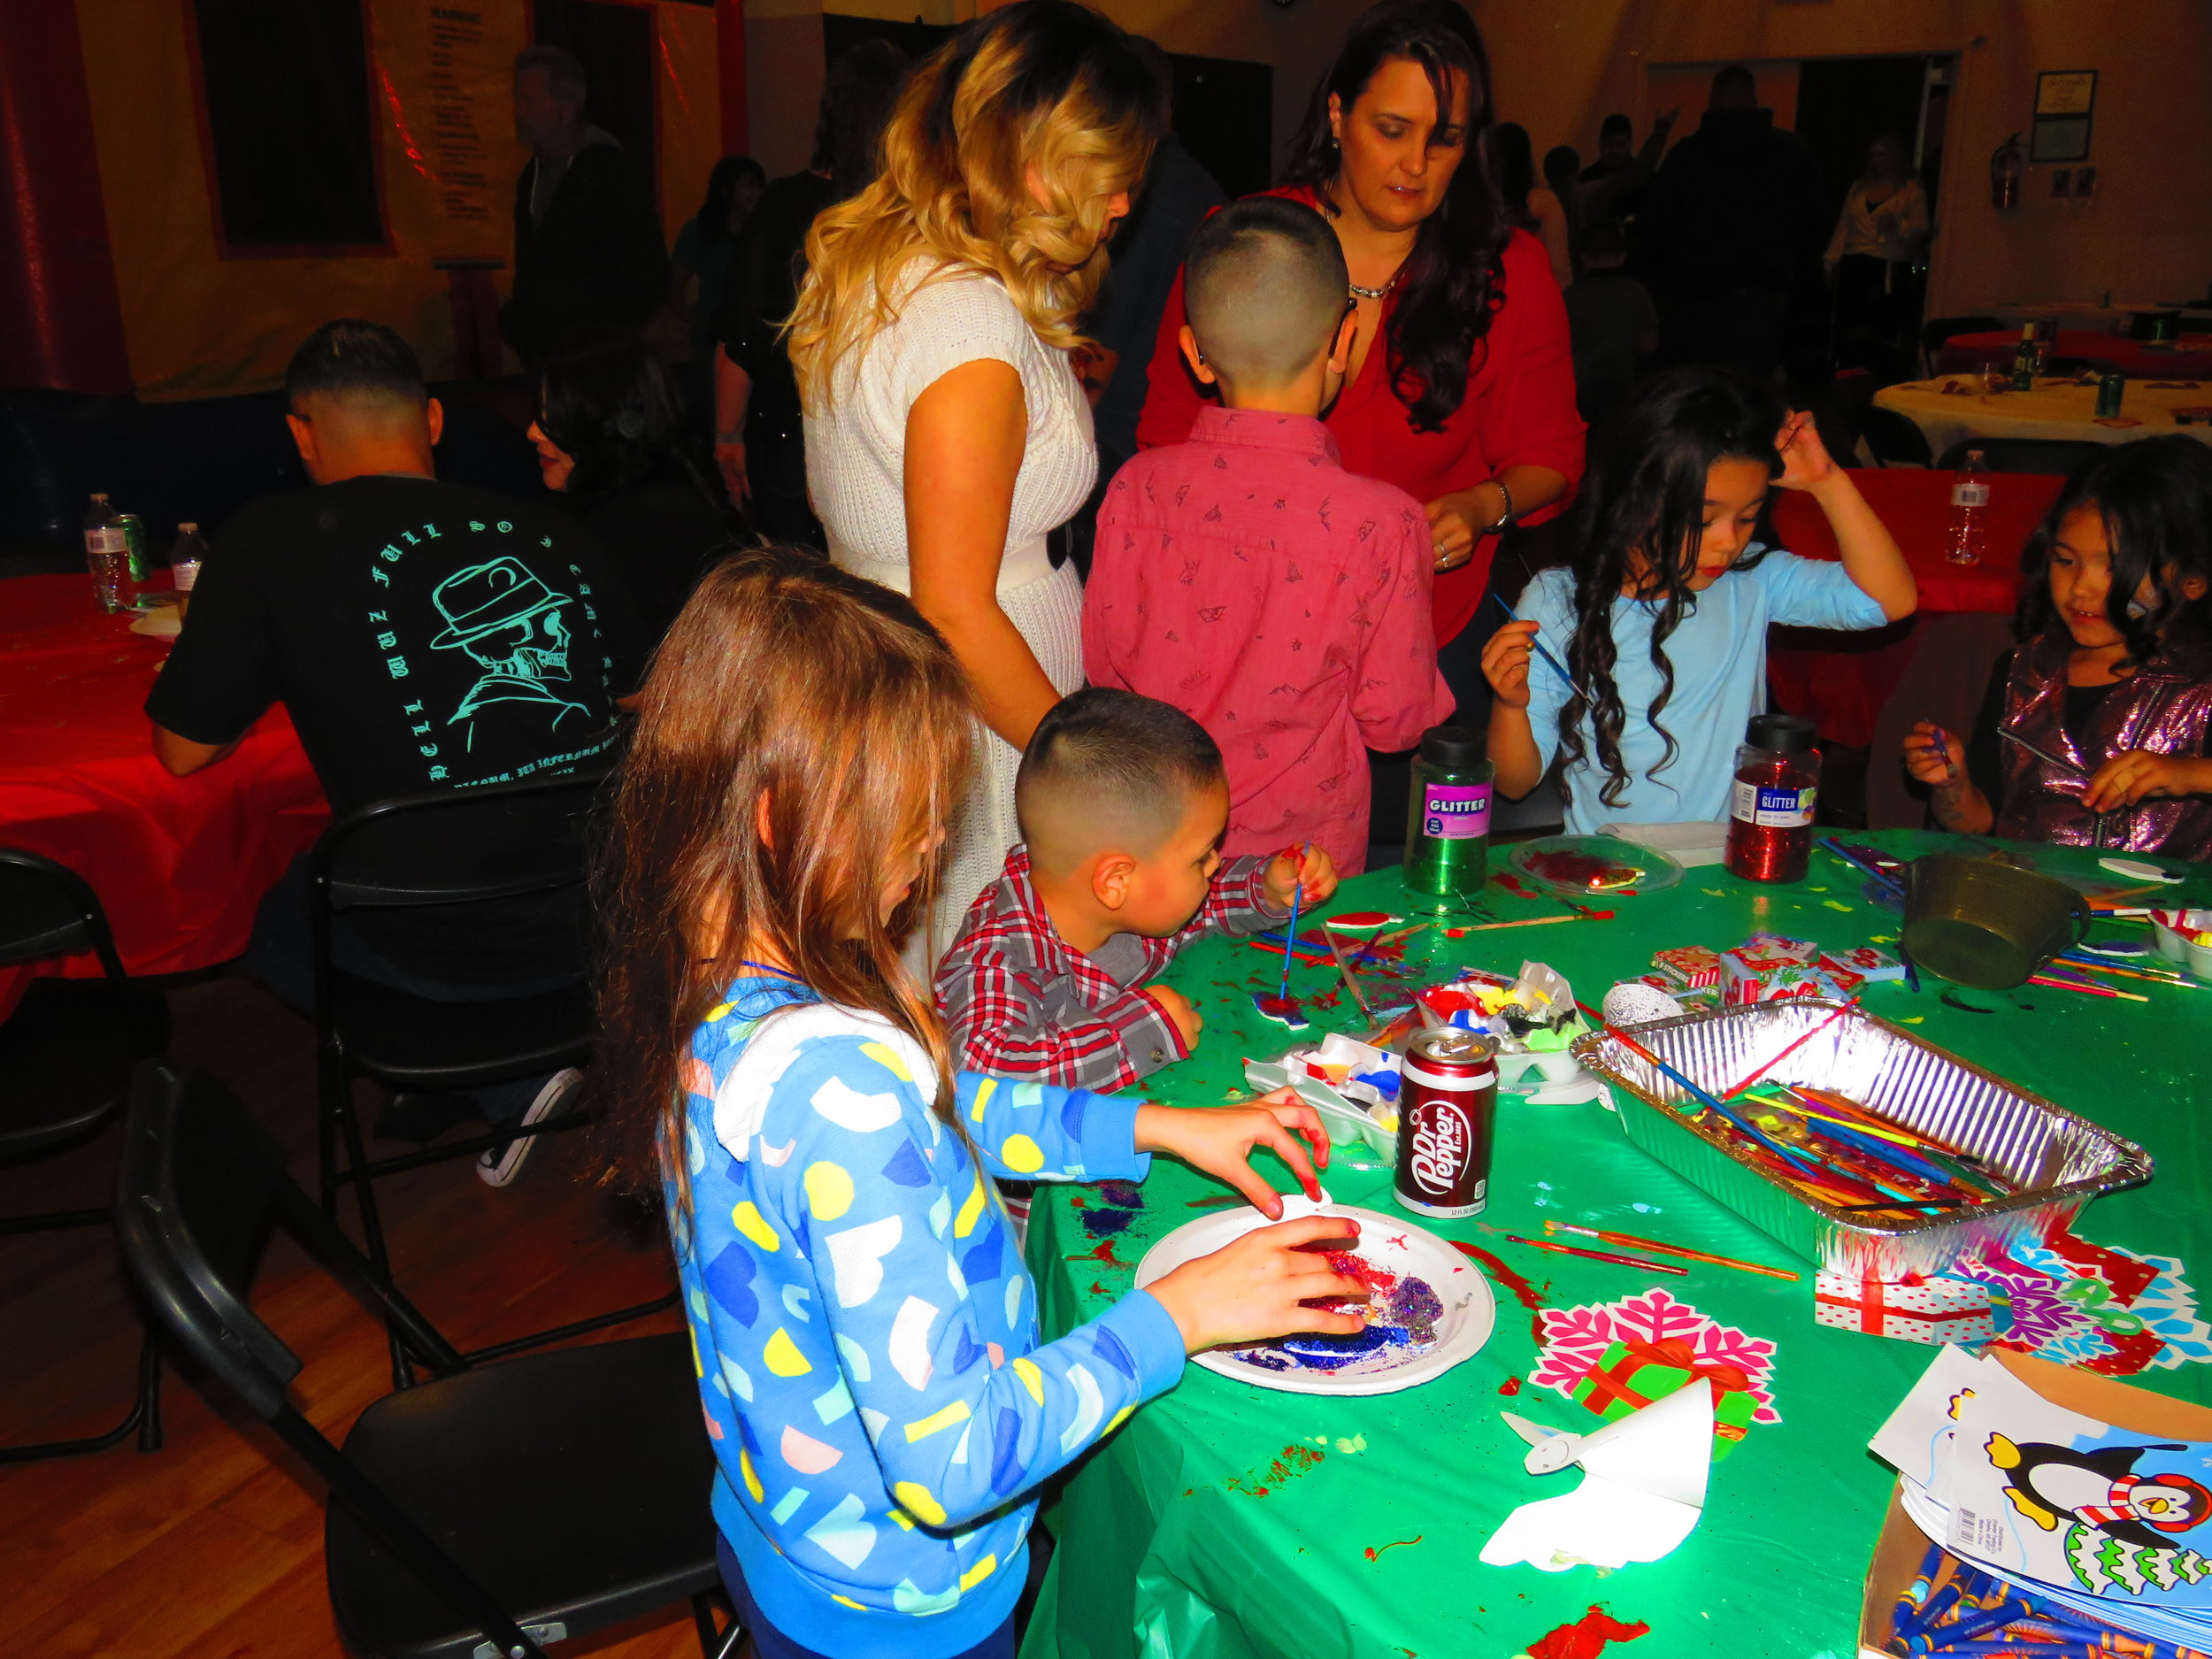
[[[1367,1329],[1206,1349],[1192,1354],[1194,1365],[1285,1394],[1398,1394],[1442,1376],[1489,1340],[1498,1321],[1489,1279],[1433,1232],[1405,1217],[1347,1203],[1316,1208],[1296,1197],[1285,1199],[1283,1214],[1343,1214],[1360,1223],[1358,1245],[1338,1265],[1369,1290]],[[1144,1252],[1137,1285],[1265,1225],[1267,1217],[1250,1208],[1190,1221]]]

